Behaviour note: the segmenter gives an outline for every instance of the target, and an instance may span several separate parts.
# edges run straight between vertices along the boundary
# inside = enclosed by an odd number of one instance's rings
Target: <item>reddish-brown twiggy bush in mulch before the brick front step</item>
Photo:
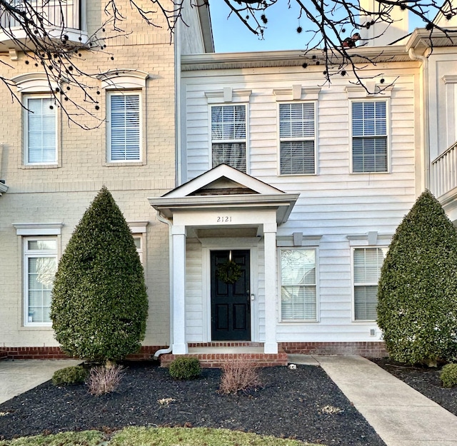
[[[241,359],[228,360],[222,366],[219,393],[236,394],[261,387],[256,365]]]

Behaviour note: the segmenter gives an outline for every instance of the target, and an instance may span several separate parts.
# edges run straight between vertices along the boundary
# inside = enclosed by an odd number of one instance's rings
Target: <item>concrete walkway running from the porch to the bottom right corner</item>
[[[360,356],[288,355],[321,365],[387,446],[457,446],[457,417]]]

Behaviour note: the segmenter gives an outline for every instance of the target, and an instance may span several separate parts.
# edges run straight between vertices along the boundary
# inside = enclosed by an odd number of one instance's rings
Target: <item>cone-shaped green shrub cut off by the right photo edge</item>
[[[457,358],[457,232],[429,191],[393,236],[378,283],[378,325],[393,360]]]

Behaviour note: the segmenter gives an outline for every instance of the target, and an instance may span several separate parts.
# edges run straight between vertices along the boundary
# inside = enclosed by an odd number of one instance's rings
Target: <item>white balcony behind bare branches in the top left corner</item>
[[[31,48],[28,34],[41,36],[42,31],[47,38],[86,44],[85,0],[9,0],[9,4],[12,11],[0,9],[0,49]],[[26,26],[17,11],[26,14]]]

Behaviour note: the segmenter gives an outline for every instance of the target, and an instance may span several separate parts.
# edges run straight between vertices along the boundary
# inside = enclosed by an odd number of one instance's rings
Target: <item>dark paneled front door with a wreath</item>
[[[249,283],[248,250],[211,251],[211,340],[251,340]]]

